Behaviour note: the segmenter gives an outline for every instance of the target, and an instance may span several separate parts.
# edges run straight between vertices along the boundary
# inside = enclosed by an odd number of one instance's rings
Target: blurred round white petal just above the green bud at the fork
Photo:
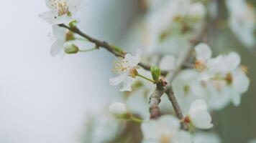
[[[173,55],[163,56],[160,61],[160,69],[171,70],[175,68],[175,57]]]

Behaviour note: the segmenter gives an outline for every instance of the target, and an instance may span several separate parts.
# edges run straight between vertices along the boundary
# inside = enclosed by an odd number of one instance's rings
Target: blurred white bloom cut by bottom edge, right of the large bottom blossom
[[[219,136],[214,133],[196,132],[193,135],[193,143],[221,143]]]

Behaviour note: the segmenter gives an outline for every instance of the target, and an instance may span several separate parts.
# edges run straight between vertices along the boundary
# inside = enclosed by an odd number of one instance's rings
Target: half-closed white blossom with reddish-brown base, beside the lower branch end
[[[184,122],[191,123],[198,129],[210,129],[214,125],[211,124],[211,115],[207,109],[208,107],[204,100],[198,99],[194,101],[184,118]]]

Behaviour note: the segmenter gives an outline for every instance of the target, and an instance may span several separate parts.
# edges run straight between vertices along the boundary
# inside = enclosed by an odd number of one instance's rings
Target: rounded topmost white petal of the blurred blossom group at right
[[[207,44],[204,44],[204,43],[198,44],[195,50],[196,50],[196,59],[201,61],[206,61],[211,58],[211,49]]]

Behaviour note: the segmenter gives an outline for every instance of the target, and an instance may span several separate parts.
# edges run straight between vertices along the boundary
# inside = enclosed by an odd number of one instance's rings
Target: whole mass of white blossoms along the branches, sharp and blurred
[[[199,44],[192,42],[195,36],[205,33],[205,21],[216,18],[216,3],[207,0],[144,2],[146,14],[134,22],[123,42],[127,47],[140,47],[133,55],[106,42],[101,45],[81,31],[73,30],[78,29],[73,16],[81,8],[81,0],[45,0],[50,11],[39,16],[52,24],[55,36],[50,49],[52,56],[91,51],[100,46],[106,46],[105,49],[119,56],[112,70],[117,76],[110,78],[109,84],[122,84],[119,91],[123,96],[111,99],[114,103],[108,103],[109,110],[104,106],[88,119],[86,142],[129,142],[132,135],[127,135],[127,130],[134,127],[142,133],[140,140],[143,143],[220,143],[221,139],[211,130],[214,128],[211,115],[231,102],[239,106],[242,94],[250,86],[250,79],[237,52],[213,56],[210,46],[202,42],[202,38],[196,39]],[[253,46],[254,9],[250,9],[244,0],[227,0],[226,4],[230,28],[240,35],[238,38],[244,44]],[[95,47],[80,49],[76,41],[81,39],[95,44]],[[189,52],[184,57],[186,51]],[[167,85],[173,90],[183,117],[178,117],[177,108],[168,98]],[[148,112],[152,104],[148,102],[159,86],[165,90],[155,97],[161,114],[152,118]],[[139,124],[131,125],[129,121]],[[187,129],[183,129],[184,124]]]

